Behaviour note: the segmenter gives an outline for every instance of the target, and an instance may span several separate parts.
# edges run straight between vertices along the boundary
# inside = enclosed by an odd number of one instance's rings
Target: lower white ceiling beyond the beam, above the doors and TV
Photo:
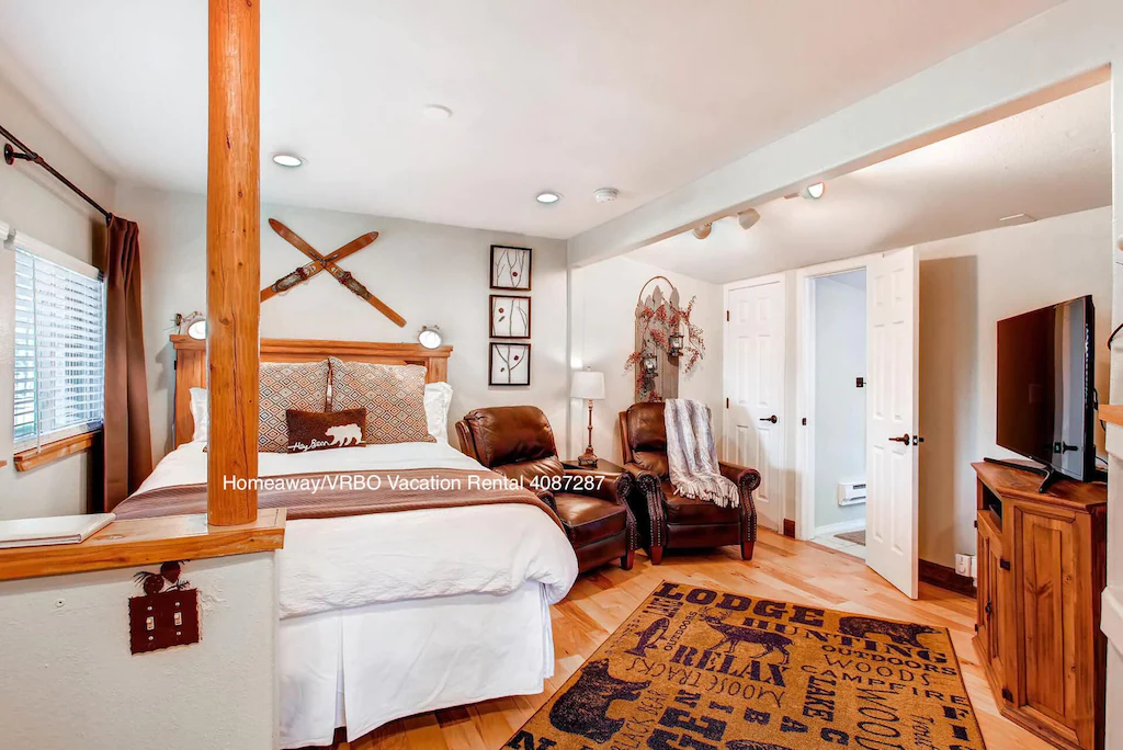
[[[729,282],[1110,205],[1111,149],[1105,83],[833,180],[818,201],[765,203],[748,231],[722,219],[709,239],[684,232],[629,257]]]

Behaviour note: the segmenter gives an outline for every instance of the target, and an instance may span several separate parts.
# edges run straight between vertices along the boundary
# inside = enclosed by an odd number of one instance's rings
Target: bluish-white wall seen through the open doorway
[[[866,272],[814,281],[815,527],[857,522],[865,505],[838,504],[840,482],[866,481]],[[791,421],[791,420],[789,420]]]

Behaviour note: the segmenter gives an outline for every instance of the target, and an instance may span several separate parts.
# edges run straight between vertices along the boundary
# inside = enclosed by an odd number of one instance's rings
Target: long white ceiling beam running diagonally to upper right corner
[[[1123,3],[1069,0],[568,241],[569,265],[630,253],[820,180],[1106,81]]]

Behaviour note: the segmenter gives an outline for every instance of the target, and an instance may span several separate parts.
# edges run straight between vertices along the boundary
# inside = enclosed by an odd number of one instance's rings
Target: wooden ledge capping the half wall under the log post
[[[208,525],[203,513],[113,521],[81,545],[0,549],[0,580],[268,552],[284,546],[286,514],[263,509],[237,527]]]

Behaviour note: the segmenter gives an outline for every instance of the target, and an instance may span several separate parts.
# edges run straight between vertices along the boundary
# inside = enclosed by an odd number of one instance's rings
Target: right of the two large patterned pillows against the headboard
[[[436,442],[424,411],[426,368],[331,357],[331,411],[366,409],[368,443]]]

